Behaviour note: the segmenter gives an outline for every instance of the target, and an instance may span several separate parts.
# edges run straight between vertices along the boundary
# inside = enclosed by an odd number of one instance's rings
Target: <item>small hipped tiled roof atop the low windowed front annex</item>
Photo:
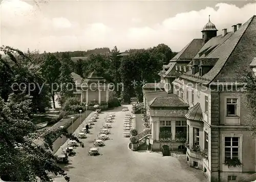
[[[168,97],[156,97],[150,103],[150,107],[188,107],[178,96],[170,94]]]

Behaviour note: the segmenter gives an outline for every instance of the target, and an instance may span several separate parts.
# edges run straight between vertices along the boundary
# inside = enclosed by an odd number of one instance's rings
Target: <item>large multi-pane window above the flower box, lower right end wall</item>
[[[225,158],[239,158],[239,137],[225,137]]]

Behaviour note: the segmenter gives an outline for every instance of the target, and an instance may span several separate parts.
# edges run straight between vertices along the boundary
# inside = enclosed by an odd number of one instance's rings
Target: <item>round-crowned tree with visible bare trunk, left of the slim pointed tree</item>
[[[44,62],[41,64],[42,76],[47,80],[50,86],[50,95],[52,97],[53,108],[55,108],[55,90],[59,85],[61,63],[53,54],[47,53],[44,55]]]

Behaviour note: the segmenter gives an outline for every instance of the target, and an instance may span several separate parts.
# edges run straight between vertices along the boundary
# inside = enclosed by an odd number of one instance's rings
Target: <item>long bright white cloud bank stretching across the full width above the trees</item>
[[[247,4],[239,8],[219,3],[216,8],[206,7],[200,11],[166,17],[155,25],[146,24],[146,18],[143,18],[142,22],[140,17],[134,17],[130,18],[131,21],[125,26],[117,26],[119,23],[116,22],[116,27],[106,22],[103,24],[96,15],[95,19],[87,20],[81,14],[74,13],[75,17],[69,19],[65,13],[54,13],[56,9],[48,8],[48,12],[52,11],[52,14],[58,16],[51,16],[44,10],[40,11],[37,6],[20,0],[2,1],[0,44],[23,51],[29,48],[55,52],[111,48],[114,45],[125,50],[165,43],[172,50],[180,51],[193,38],[201,38],[201,30],[207,23],[209,14],[211,21],[219,30],[218,33],[221,34],[223,28],[230,31],[232,25],[244,24],[255,14],[256,4]]]

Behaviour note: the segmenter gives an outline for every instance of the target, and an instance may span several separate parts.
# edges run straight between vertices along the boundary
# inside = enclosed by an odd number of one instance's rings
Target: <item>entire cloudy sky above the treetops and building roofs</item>
[[[167,44],[179,52],[210,20],[222,34],[256,15],[253,1],[0,0],[0,44],[22,51],[120,51]]]

